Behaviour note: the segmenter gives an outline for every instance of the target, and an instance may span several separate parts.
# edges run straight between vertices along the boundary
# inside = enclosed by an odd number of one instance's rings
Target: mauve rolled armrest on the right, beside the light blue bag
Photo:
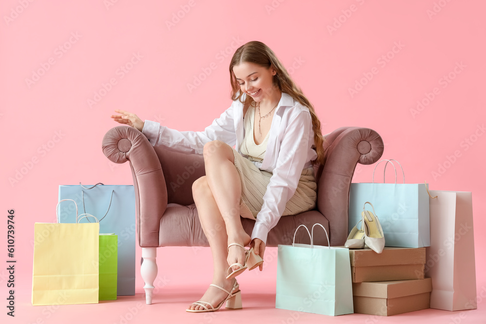
[[[347,239],[349,188],[357,163],[373,164],[383,154],[383,140],[372,129],[341,127],[328,134],[325,163],[319,167],[317,209],[329,221],[330,245]]]

